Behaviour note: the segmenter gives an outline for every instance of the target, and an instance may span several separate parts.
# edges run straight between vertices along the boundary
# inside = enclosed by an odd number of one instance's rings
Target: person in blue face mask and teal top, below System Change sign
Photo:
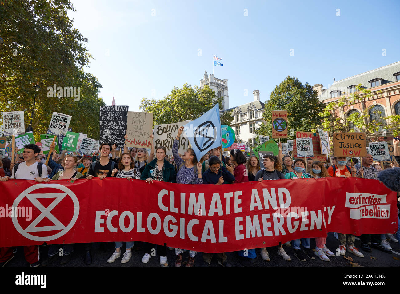
[[[306,162],[302,158],[298,158],[294,161],[294,172],[289,172],[285,174],[286,179],[302,179],[309,178],[307,174],[305,174],[306,170]],[[300,240],[304,247],[302,251],[300,249]],[[301,238],[292,241],[292,247],[294,249],[294,256],[297,257],[298,260],[306,261],[308,258],[315,259],[314,252],[312,252],[310,248],[310,238]]]

